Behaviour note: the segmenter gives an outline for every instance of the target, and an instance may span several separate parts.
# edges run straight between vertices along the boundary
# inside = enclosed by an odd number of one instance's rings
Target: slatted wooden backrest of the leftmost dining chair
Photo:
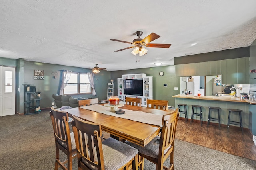
[[[56,147],[69,155],[72,153],[72,144],[68,125],[68,113],[51,107],[50,117],[52,119]]]

